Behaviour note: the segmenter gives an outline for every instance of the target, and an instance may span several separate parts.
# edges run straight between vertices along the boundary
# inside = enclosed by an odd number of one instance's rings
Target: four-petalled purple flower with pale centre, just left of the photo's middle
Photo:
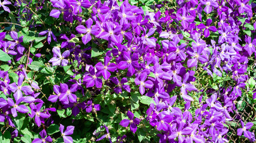
[[[110,77],[110,72],[112,71],[114,72],[117,69],[117,66],[115,63],[109,63],[110,62],[110,57],[106,56],[104,58],[104,65],[99,62],[95,65],[96,69],[99,70],[101,72],[101,74],[103,74],[104,79],[109,79]]]

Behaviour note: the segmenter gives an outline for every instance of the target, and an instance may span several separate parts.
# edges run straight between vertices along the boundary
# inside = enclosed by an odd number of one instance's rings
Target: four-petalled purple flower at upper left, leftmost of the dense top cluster
[[[76,27],[77,32],[85,34],[85,36],[82,37],[82,41],[85,45],[92,39],[91,32],[96,30],[95,27],[93,29],[91,28],[93,22],[94,21],[92,21],[92,19],[89,18],[88,20],[85,21],[87,28],[83,25]]]

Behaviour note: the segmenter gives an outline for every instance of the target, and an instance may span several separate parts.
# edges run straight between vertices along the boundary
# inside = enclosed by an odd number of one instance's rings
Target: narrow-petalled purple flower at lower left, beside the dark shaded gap
[[[35,116],[35,124],[37,124],[38,127],[41,126],[41,119],[47,119],[50,117],[50,114],[46,114],[40,111],[42,105],[43,102],[40,102],[31,110],[31,118]]]

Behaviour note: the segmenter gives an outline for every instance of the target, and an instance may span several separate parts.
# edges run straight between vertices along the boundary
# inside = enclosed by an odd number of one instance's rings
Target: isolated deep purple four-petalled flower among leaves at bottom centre
[[[124,119],[122,120],[119,125],[123,126],[123,127],[127,127],[129,124],[129,129],[135,133],[137,130],[137,125],[140,124],[140,120],[138,118],[134,119],[134,114],[131,111],[127,112],[127,116],[129,117],[128,119]]]

